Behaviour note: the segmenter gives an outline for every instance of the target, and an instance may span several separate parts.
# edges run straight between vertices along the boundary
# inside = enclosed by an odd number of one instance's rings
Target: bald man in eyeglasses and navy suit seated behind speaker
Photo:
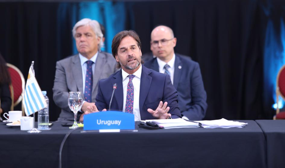
[[[178,92],[182,118],[202,120],[207,109],[207,94],[199,64],[190,57],[174,53],[177,39],[170,27],[155,27],[150,38],[150,50],[154,57],[144,63],[144,66],[170,76]]]

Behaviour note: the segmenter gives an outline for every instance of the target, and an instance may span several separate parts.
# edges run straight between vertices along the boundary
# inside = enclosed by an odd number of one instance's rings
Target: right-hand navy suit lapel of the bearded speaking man
[[[142,116],[142,106],[144,105],[144,101],[147,97],[149,88],[150,88],[150,84],[151,84],[151,80],[152,77],[149,76],[151,72],[149,71],[149,69],[147,69],[145,66],[142,65],[142,69],[141,69],[141,84],[140,84],[140,100],[139,100],[139,106],[140,106],[140,113]]]

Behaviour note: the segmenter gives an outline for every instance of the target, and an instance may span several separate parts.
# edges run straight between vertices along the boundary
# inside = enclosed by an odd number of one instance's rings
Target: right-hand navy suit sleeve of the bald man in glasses
[[[199,64],[195,64],[195,68],[190,79],[191,85],[191,105],[181,114],[185,115],[189,120],[202,120],[207,110],[207,94],[204,89],[202,75]]]

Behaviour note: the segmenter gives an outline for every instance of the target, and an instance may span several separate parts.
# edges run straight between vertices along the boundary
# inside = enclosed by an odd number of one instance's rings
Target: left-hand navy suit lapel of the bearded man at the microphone
[[[123,93],[123,79],[122,79],[122,69],[113,76],[114,80],[113,83],[117,83],[117,89],[114,92],[116,101],[118,103],[119,110],[123,109],[123,100],[124,100],[124,93]]]

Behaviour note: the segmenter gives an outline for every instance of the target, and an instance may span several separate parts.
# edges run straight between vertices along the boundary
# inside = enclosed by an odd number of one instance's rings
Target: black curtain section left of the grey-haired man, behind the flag
[[[76,4],[66,5],[69,10],[62,11],[59,3],[0,3],[0,53],[21,70],[25,80],[35,61],[36,79],[49,97],[50,121],[57,120],[60,112],[52,99],[55,63],[72,54],[71,15]]]

